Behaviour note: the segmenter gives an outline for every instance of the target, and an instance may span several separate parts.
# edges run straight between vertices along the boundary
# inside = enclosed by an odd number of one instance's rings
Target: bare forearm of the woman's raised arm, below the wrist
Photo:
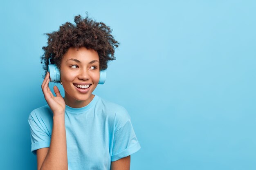
[[[67,168],[65,114],[54,115],[51,144],[41,170],[67,170]]]

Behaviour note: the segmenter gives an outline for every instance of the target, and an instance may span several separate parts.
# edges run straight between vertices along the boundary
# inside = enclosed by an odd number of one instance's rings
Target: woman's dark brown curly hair
[[[47,46],[43,46],[44,54],[41,56],[41,64],[45,77],[48,71],[48,59],[52,57],[51,63],[56,64],[60,69],[63,55],[70,47],[86,47],[98,52],[100,60],[100,70],[108,68],[108,61],[115,60],[115,48],[119,46],[113,36],[112,30],[103,22],[96,22],[88,17],[82,18],[81,15],[74,17],[75,24],[66,22],[62,24],[58,31],[44,33],[48,36]]]

